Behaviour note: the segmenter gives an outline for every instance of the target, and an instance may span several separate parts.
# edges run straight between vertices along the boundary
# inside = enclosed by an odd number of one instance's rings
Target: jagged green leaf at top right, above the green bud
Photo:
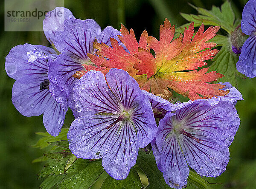
[[[210,11],[193,5],[191,6],[198,11],[199,15],[181,13],[181,16],[189,22],[194,21],[195,26],[199,26],[201,23],[204,23],[204,25],[221,26],[221,28],[227,31],[229,34],[231,34],[237,26],[234,25],[235,14],[229,1],[226,1],[223,5],[221,5],[221,8],[212,6],[212,10]],[[185,27],[187,27],[187,25],[180,26],[178,31],[183,31],[183,28]]]

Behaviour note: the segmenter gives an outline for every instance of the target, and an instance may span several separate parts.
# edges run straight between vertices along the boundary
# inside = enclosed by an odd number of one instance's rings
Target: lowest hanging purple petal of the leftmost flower
[[[64,110],[61,104],[53,98],[49,99],[46,110],[44,111],[43,122],[44,127],[50,135],[58,136],[61,132],[66,113],[67,109]]]

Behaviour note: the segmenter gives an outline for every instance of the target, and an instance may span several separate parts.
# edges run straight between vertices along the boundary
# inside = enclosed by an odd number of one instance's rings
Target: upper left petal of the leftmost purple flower
[[[47,48],[41,45],[17,45],[11,49],[6,56],[6,73],[8,76],[16,79],[20,83],[28,82],[42,82],[47,77],[47,60],[36,60],[35,62],[28,62],[27,52],[36,48],[43,49],[45,54],[54,54],[52,48]],[[47,49],[48,51],[45,51]]]

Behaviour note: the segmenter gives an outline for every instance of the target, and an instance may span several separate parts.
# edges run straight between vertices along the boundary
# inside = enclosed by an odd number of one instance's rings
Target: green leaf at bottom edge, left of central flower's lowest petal
[[[75,162],[75,164],[77,161]],[[83,165],[84,169],[58,183],[58,189],[89,189],[97,181],[105,170],[102,167],[102,161],[93,161]],[[69,169],[68,169],[69,171]]]

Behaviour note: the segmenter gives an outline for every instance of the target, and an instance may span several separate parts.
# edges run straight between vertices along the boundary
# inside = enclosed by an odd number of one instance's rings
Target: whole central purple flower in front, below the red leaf
[[[71,152],[78,158],[102,158],[111,177],[125,179],[139,147],[147,146],[157,131],[148,97],[126,71],[112,68],[106,78],[99,71],[81,77],[74,100],[82,116],[68,132]]]

